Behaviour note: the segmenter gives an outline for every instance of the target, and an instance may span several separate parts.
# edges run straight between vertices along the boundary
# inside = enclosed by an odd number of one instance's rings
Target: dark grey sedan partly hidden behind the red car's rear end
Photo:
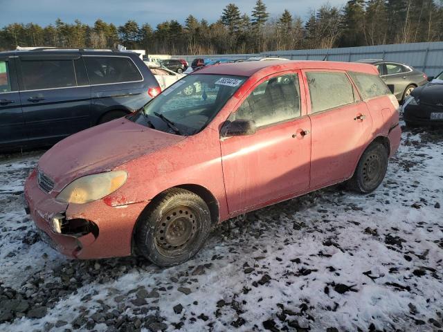
[[[417,86],[426,84],[428,79],[425,73],[407,64],[376,59],[359,60],[358,62],[376,66],[381,78],[400,103],[406,100]]]

